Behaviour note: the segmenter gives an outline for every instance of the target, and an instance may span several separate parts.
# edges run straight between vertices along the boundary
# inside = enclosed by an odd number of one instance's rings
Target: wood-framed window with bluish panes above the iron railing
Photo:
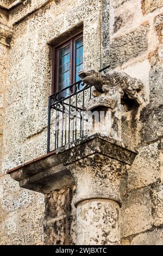
[[[78,72],[83,69],[83,34],[54,47],[53,61],[52,93],[78,82]]]

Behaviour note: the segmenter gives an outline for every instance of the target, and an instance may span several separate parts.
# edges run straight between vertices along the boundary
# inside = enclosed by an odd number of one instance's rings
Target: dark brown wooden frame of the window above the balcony
[[[52,94],[58,92],[59,51],[70,45],[70,85],[76,80],[76,41],[83,38],[83,30],[52,48]]]

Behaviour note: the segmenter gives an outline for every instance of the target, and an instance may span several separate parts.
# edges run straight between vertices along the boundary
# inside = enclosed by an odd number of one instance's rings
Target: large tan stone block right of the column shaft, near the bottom
[[[121,230],[122,237],[140,233],[152,227],[152,209],[149,187],[131,191],[123,199]]]

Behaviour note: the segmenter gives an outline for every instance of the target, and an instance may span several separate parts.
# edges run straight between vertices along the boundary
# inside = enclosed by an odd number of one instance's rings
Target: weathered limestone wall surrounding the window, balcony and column
[[[162,1],[30,2],[10,10],[9,19],[0,13],[13,28],[11,40],[0,45],[0,243],[42,244],[43,227],[46,244],[76,243],[74,187],[46,195],[44,203],[42,194],[20,188],[5,174],[46,154],[49,44],[84,27],[85,68],[110,64],[145,84],[145,103],[128,112],[122,107],[122,141],[140,154],[122,189],[121,237],[122,244],[162,244]]]

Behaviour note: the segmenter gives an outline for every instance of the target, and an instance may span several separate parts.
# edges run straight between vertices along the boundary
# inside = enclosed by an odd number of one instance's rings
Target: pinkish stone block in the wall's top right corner
[[[141,0],[141,8],[143,15],[151,13],[155,9],[163,7],[162,0]]]

